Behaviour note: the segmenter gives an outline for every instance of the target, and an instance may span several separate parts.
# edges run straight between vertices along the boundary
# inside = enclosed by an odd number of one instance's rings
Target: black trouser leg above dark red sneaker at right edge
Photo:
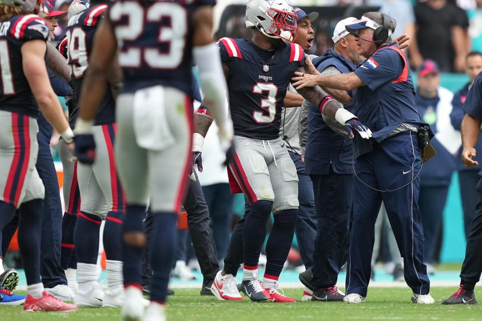
[[[482,273],[482,255],[480,254],[482,248],[482,179],[479,179],[476,190],[475,218],[467,238],[465,259],[460,272],[460,279],[468,289],[475,286],[475,283],[480,280],[480,273]]]

